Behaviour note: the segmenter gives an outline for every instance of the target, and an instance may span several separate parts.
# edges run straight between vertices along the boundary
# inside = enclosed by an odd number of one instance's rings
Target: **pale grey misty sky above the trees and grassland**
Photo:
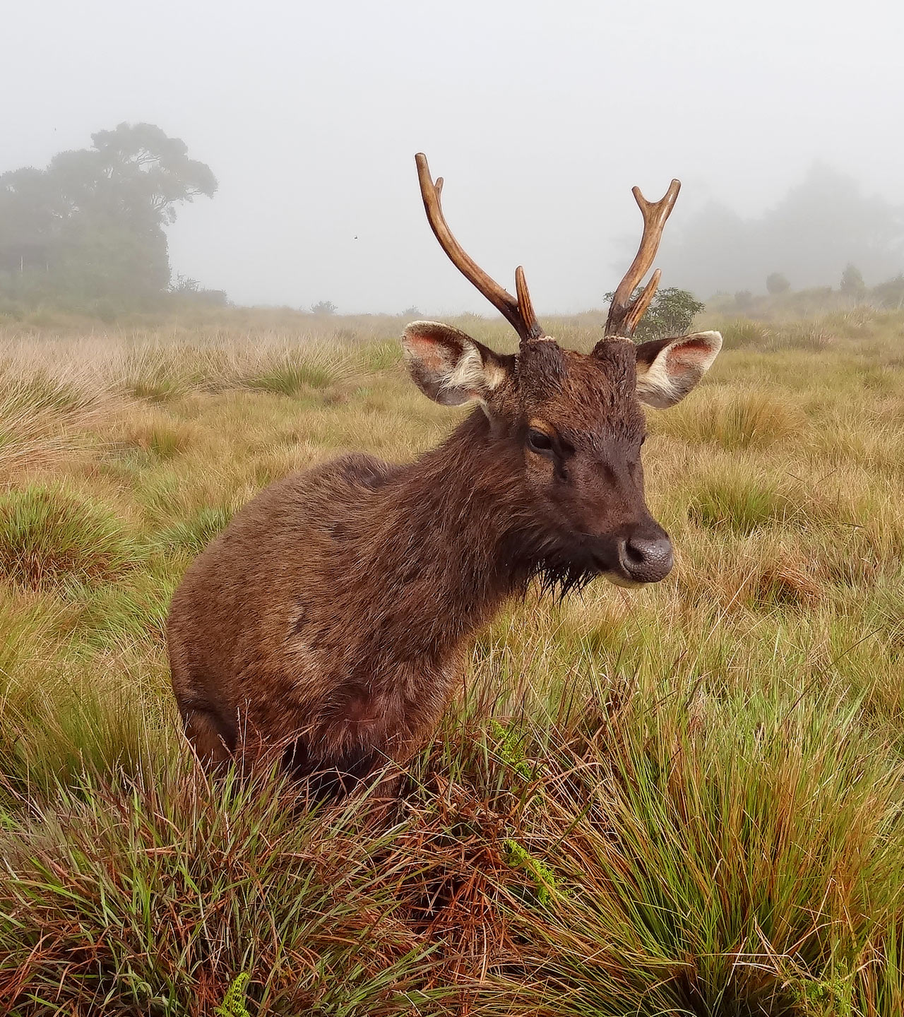
[[[2,26],[0,171],[123,120],[182,137],[220,190],[180,211],[174,271],[242,303],[486,313],[417,151],[466,249],[509,290],[523,263],[547,312],[617,283],[632,184],[681,179],[673,229],[714,197],[757,215],[815,159],[904,190],[890,0],[31,0]]]

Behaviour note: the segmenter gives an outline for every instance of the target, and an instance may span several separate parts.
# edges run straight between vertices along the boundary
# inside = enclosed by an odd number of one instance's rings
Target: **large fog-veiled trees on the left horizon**
[[[50,305],[104,314],[158,306],[168,294],[225,302],[179,277],[164,227],[217,180],[179,138],[121,123],[46,169],[0,174],[0,310]]]

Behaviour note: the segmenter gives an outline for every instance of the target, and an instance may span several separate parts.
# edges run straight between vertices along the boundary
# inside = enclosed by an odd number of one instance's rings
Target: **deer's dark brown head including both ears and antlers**
[[[442,179],[415,157],[427,220],[453,263],[509,321],[521,338],[517,355],[501,355],[449,325],[415,321],[403,347],[412,378],[447,406],[473,402],[489,421],[505,485],[529,504],[525,530],[535,571],[564,586],[604,575],[620,586],[655,583],[672,567],[668,535],[644,497],[641,404],[674,406],[716,358],[722,337],[704,332],[636,345],[630,339],[659,285],[657,270],[641,294],[680,184],[660,201],[635,187],[644,217],[637,256],[615,292],[603,339],[593,352],[561,348],[537,320],[524,270],[516,296],[465,252],[442,214]]]

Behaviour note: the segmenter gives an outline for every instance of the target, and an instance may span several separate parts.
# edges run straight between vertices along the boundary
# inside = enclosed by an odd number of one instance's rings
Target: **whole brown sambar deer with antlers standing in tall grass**
[[[640,345],[640,296],[680,184],[634,195],[640,248],[590,354],[562,349],[465,252],[416,157],[427,219],[453,263],[510,322],[502,355],[436,321],[402,337],[415,384],[474,412],[438,447],[390,465],[348,455],[278,481],[185,575],[168,642],[185,731],[204,765],[274,751],[315,793],[342,793],[427,739],[460,679],[469,638],[532,578],[564,592],[595,576],[664,579],[672,546],[644,499],[641,403],[673,406],[721,336]]]

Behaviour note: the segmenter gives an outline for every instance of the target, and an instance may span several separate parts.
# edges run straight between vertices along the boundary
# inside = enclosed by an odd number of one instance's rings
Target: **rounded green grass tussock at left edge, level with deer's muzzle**
[[[42,486],[0,497],[0,575],[14,584],[110,580],[141,557],[123,521],[91,498]]]

